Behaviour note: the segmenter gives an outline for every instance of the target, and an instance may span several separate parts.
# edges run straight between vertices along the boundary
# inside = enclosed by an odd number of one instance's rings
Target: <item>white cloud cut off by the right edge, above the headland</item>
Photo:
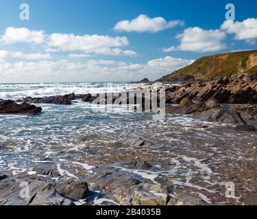
[[[225,21],[221,29],[234,34],[236,40],[253,40],[257,38],[257,18],[248,18],[242,22]]]

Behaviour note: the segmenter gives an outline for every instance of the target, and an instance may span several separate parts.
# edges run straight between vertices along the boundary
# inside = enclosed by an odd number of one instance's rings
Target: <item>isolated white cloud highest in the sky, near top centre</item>
[[[178,25],[184,25],[184,22],[180,20],[166,21],[160,16],[156,18],[149,18],[145,14],[140,14],[132,21],[119,21],[119,23],[115,25],[114,30],[126,32],[158,32]]]

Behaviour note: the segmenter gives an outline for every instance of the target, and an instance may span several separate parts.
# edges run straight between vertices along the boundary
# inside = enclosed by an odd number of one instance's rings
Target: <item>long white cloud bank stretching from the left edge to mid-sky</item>
[[[44,31],[29,30],[25,27],[8,27],[0,37],[2,44],[30,43],[38,44],[45,48],[47,53],[80,51],[82,53],[95,53],[99,55],[132,55],[128,51],[123,51],[120,47],[129,44],[126,37],[112,37],[101,35],[82,35],[74,34],[50,34]]]

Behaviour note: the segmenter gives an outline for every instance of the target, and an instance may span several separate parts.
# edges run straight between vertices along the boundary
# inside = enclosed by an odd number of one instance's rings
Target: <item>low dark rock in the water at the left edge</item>
[[[28,103],[18,104],[10,100],[0,103],[0,114],[38,114],[41,111],[41,107],[36,107]]]

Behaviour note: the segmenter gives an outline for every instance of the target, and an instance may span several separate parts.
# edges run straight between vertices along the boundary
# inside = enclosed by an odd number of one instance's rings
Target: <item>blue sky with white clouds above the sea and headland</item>
[[[256,8],[256,0],[1,0],[0,83],[158,79],[205,55],[256,49]]]

